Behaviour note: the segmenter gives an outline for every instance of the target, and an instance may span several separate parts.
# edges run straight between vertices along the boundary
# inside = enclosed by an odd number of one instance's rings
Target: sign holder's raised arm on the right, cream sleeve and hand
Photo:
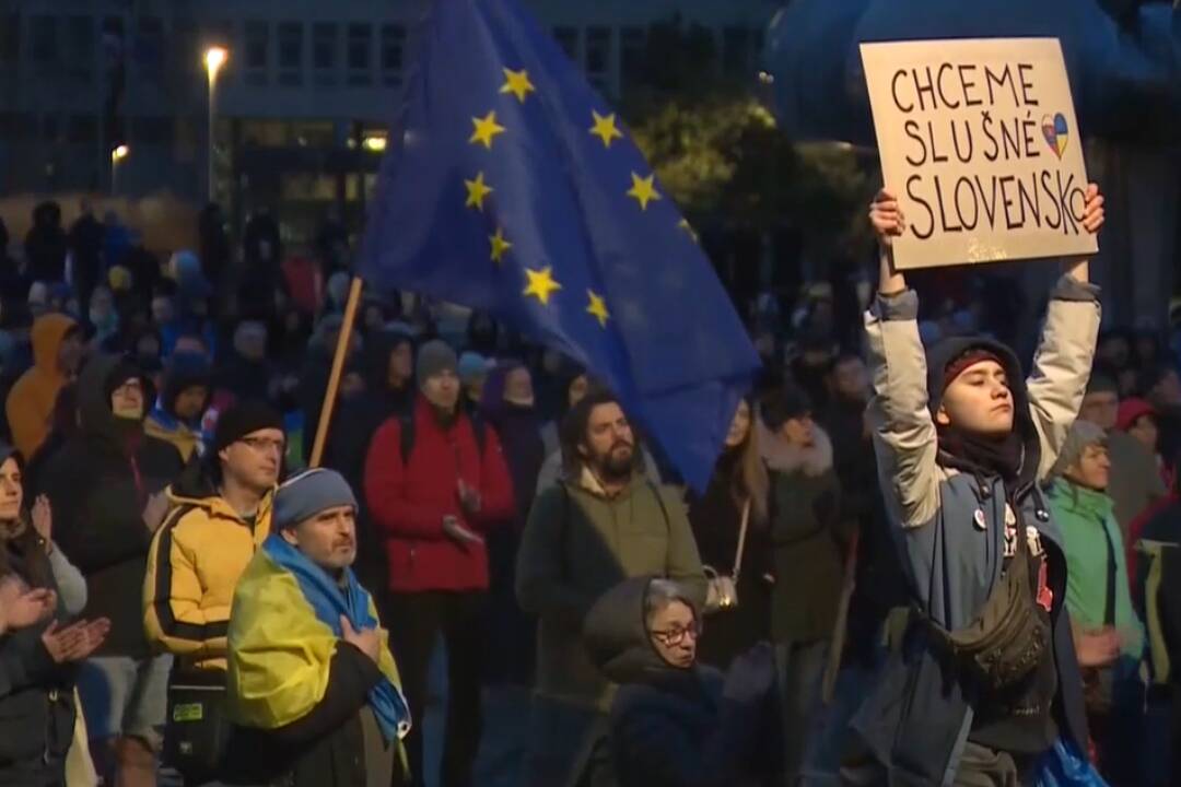
[[[1092,183],[1087,189],[1083,227],[1089,232],[1098,232],[1103,218],[1103,197]],[[1050,472],[1070,425],[1078,417],[1095,359],[1100,290],[1089,282],[1089,274],[1088,260],[1065,263],[1064,275],[1050,293],[1045,328],[1025,383],[1042,442],[1038,478]]]

